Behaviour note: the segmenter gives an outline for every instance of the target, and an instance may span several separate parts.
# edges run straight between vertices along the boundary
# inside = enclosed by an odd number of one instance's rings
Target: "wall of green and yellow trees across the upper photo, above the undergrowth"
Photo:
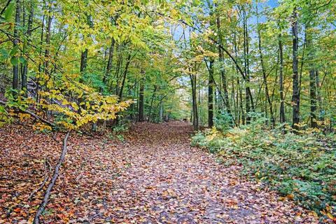
[[[132,120],[188,118],[195,130],[221,113],[234,126],[251,113],[271,127],[335,123],[333,1],[4,1],[1,8],[1,92],[10,90],[13,102],[32,99],[45,114],[81,112],[97,92],[132,99]]]

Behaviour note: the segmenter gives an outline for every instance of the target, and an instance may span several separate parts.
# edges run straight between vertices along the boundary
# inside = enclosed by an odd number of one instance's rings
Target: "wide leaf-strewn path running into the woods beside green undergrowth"
[[[111,190],[111,221],[119,223],[316,223],[292,202],[241,179],[190,147],[192,127],[138,123],[119,148],[120,169]],[[118,162],[117,162],[118,164]],[[113,181],[114,182],[114,181]]]

